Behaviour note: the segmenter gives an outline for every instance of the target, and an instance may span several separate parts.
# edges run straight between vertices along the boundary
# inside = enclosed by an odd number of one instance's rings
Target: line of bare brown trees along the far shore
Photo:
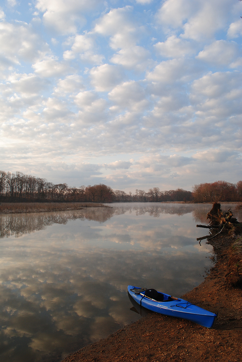
[[[194,185],[191,191],[183,189],[161,191],[158,187],[131,191],[112,190],[104,184],[69,187],[53,184],[44,178],[21,172],[0,171],[1,202],[215,202],[242,201],[242,181],[231,184],[216,181]]]

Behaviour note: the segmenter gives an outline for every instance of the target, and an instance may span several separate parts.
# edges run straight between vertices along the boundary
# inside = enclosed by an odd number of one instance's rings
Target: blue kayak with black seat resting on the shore
[[[167,316],[184,318],[211,328],[217,314],[195,306],[187,300],[174,298],[155,289],[128,286],[130,296],[142,307]]]

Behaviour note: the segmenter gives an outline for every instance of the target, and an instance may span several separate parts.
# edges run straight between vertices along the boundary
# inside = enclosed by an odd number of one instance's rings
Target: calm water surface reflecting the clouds
[[[110,206],[0,215],[2,362],[60,361],[139,319],[128,284],[181,296],[203,281],[211,205]]]

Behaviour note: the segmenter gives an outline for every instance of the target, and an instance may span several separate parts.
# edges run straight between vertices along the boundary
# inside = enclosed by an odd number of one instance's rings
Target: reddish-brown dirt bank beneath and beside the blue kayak
[[[226,284],[231,238],[220,237],[214,244],[215,266],[203,283],[182,296],[218,313],[211,329],[151,313],[67,356],[63,362],[242,361],[242,290]]]

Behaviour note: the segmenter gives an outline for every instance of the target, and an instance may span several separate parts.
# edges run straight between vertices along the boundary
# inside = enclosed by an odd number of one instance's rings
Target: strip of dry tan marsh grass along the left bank
[[[84,207],[106,207],[103,204],[92,202],[26,202],[26,203],[7,203],[0,205],[0,214],[15,214],[23,212],[46,212],[46,211],[65,211],[81,210]]]

